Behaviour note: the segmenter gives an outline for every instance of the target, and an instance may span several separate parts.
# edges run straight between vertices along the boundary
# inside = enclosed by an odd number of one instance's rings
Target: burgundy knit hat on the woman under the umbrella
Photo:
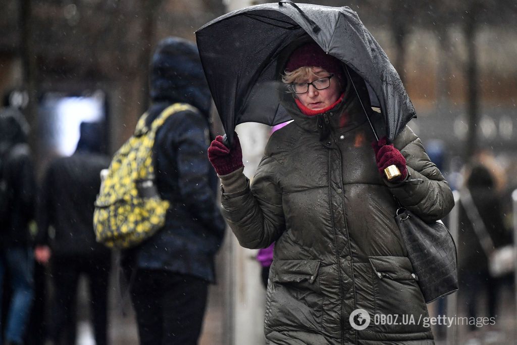
[[[285,72],[292,72],[303,66],[321,67],[337,76],[343,73],[341,61],[325,53],[316,42],[303,44],[296,48],[287,61]]]

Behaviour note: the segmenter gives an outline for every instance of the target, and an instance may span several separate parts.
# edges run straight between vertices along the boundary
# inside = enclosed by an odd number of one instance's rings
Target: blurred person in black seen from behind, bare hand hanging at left
[[[55,319],[49,337],[55,344],[75,344],[81,275],[88,278],[95,342],[108,343],[111,252],[96,242],[93,230],[100,171],[110,162],[102,154],[101,133],[99,124],[82,123],[74,154],[51,162],[41,186],[35,257],[51,266]]]

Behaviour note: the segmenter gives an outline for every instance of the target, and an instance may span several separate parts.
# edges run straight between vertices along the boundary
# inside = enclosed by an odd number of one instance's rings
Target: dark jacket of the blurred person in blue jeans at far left
[[[0,111],[0,244],[6,248],[28,246],[31,238],[36,183],[27,133],[18,110]]]

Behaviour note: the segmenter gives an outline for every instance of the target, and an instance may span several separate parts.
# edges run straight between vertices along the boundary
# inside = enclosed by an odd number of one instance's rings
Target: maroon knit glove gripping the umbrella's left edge
[[[223,137],[217,136],[208,147],[208,159],[218,175],[227,175],[244,167],[242,165],[242,149],[237,133],[233,137],[232,149],[223,144]]]

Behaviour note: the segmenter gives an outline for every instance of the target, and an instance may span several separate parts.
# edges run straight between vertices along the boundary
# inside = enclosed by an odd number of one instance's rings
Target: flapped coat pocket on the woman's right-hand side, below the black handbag
[[[428,317],[418,277],[406,257],[370,257],[374,275],[375,314],[390,315],[391,324],[376,324],[377,332],[413,333],[427,332],[422,326]]]

